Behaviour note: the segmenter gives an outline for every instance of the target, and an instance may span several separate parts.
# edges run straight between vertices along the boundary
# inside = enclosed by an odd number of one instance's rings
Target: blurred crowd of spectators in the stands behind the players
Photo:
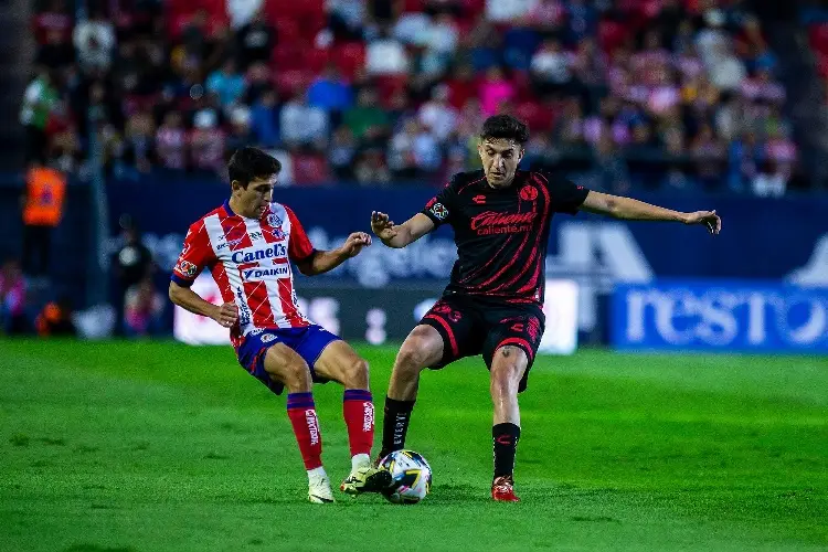
[[[53,0],[33,29],[29,158],[70,173],[94,134],[116,178],[221,176],[254,144],[297,185],[437,184],[476,166],[476,129],[506,112],[532,130],[527,162],[619,193],[779,195],[799,177],[778,60],[739,0],[112,0],[86,13]]]

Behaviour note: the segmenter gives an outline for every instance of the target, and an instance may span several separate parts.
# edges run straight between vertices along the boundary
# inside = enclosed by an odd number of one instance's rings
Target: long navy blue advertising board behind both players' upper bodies
[[[131,214],[145,243],[163,270],[181,250],[188,226],[221,204],[229,187],[180,179],[159,182],[110,182],[112,227]],[[436,192],[429,188],[355,185],[278,188],[275,200],[298,215],[318,248],[336,247],[354,231],[370,230],[371,211],[402,222]],[[828,198],[758,199],[633,193],[637,199],[681,211],[715,209],[722,233],[676,223],[622,222],[598,215],[556,215],[552,222],[546,276],[578,283],[578,327],[601,332],[603,301],[618,284],[649,284],[659,278],[763,278],[828,287]],[[117,237],[110,248],[115,251]],[[456,251],[450,229],[439,229],[404,250],[381,244],[318,276],[315,284],[351,284],[384,288],[401,283],[447,282]]]

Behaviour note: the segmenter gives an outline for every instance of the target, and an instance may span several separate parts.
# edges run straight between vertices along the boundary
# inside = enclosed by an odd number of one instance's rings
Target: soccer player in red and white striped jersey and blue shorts
[[[311,385],[344,385],[351,474],[340,489],[355,495],[376,473],[370,459],[374,408],[368,363],[299,310],[290,263],[305,275],[322,274],[358,255],[371,237],[355,232],[337,250],[315,250],[296,214],[273,201],[280,169],[278,160],[255,148],[233,155],[230,199],[190,226],[172,272],[170,299],[227,328],[238,363],[274,393],[287,388],[287,413],[308,471],[308,499],[332,502]],[[221,289],[221,306],[190,289],[204,268]]]

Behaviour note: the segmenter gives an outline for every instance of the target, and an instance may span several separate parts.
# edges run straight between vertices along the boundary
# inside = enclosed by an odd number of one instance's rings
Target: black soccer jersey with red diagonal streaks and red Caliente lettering
[[[542,171],[518,171],[493,189],[482,170],[455,174],[423,209],[450,224],[458,259],[447,294],[543,304],[549,229],[554,213],[577,213],[588,190]]]

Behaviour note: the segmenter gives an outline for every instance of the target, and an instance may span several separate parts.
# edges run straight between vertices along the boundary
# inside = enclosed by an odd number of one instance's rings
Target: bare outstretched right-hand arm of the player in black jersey
[[[627,221],[675,221],[684,224],[703,224],[711,234],[718,234],[722,230],[722,220],[715,211],[682,213],[631,198],[595,191],[590,191],[581,209]]]

